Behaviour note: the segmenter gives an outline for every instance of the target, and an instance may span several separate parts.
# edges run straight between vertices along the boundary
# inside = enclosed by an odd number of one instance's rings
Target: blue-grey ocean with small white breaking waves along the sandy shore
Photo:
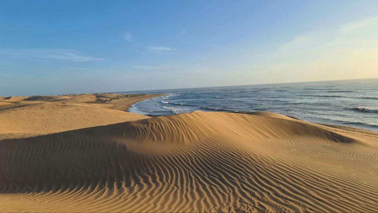
[[[136,103],[131,112],[173,115],[202,111],[269,111],[313,123],[378,132],[378,78],[133,91],[166,93]]]

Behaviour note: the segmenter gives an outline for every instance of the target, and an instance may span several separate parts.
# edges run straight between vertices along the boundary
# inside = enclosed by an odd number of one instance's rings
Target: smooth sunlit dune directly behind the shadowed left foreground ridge
[[[148,118],[88,104],[36,103],[0,110],[0,139],[31,137]]]

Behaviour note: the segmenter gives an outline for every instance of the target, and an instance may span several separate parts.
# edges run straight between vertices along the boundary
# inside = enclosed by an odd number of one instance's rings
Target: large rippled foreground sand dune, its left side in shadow
[[[0,141],[0,211],[378,209],[378,135],[193,112]]]

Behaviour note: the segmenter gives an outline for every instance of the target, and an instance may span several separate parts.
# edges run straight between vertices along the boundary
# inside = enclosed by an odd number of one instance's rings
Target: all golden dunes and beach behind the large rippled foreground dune
[[[0,97],[0,140],[148,118],[113,108],[158,95],[79,94]],[[101,98],[105,97],[105,100]],[[121,102],[121,103],[120,103]],[[128,108],[127,108],[128,109]],[[125,111],[127,111],[125,109]]]

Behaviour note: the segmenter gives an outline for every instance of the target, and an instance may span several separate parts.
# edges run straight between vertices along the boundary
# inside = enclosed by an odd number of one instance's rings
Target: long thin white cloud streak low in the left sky
[[[81,51],[70,49],[0,49],[0,54],[21,59],[55,59],[64,61],[104,61],[103,58],[86,56]]]

